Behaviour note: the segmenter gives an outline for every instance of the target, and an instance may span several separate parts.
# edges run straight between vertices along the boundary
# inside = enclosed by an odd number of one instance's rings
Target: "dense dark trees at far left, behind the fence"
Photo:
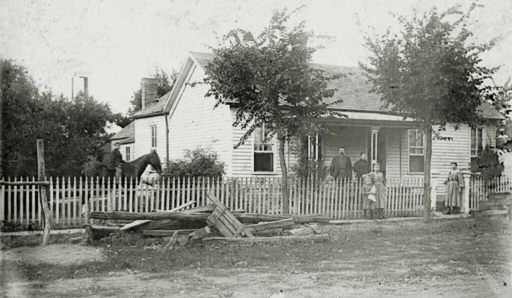
[[[45,140],[47,173],[80,175],[89,157],[102,155],[105,126],[115,117],[107,104],[83,93],[73,100],[39,91],[24,67],[0,60],[4,176],[36,176],[36,140]]]

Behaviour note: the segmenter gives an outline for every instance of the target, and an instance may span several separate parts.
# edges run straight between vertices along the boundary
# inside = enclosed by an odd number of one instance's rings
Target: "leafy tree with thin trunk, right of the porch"
[[[484,84],[496,68],[480,66],[480,54],[493,42],[474,44],[465,22],[467,13],[458,7],[443,13],[435,9],[412,20],[398,17],[402,30],[367,37],[373,92],[382,95],[386,107],[413,118],[425,135],[424,217],[430,218],[430,164],[433,126],[444,130],[447,123],[468,123],[472,127],[482,118],[477,107],[490,93]]]

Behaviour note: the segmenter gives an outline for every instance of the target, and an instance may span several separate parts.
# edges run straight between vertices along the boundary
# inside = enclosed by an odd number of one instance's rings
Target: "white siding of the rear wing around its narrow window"
[[[157,147],[151,147],[151,126],[157,126]],[[147,118],[135,119],[135,143],[134,143],[134,159],[150,153],[151,149],[156,149],[158,156],[162,163],[165,162],[166,157],[166,141],[165,141],[165,116],[153,116]],[[124,154],[123,152],[121,152]],[[150,176],[151,167],[147,167],[144,177]]]

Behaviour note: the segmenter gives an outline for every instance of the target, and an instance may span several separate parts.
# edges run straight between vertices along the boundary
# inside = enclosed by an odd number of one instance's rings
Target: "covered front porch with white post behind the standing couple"
[[[412,120],[400,116],[343,112],[348,119],[326,120],[328,133],[310,139],[310,157],[329,166],[339,148],[345,148],[352,165],[366,153],[370,165],[378,163],[386,178],[423,175],[425,140]]]

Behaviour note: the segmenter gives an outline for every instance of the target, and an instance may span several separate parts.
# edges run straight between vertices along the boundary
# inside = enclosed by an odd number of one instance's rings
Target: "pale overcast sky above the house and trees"
[[[86,73],[91,95],[126,112],[140,79],[156,65],[180,70],[190,51],[209,52],[217,36],[234,28],[259,33],[275,9],[305,5],[293,22],[306,21],[317,35],[332,36],[313,61],[345,66],[365,62],[362,46],[368,27],[395,26],[391,13],[410,16],[413,9],[444,10],[473,1],[23,1],[0,0],[0,57],[24,65],[41,86],[71,97],[71,77]],[[478,41],[500,37],[484,58],[503,65],[495,76],[502,84],[512,75],[512,1],[482,0],[471,18]],[[390,13],[391,12],[391,13]],[[75,86],[75,90],[79,86]]]

